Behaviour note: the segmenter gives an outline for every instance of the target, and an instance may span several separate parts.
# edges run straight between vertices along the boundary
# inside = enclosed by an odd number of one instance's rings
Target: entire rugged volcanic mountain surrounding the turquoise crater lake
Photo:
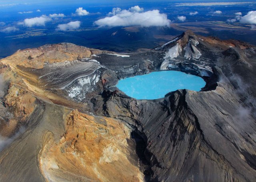
[[[0,181],[256,181],[252,45],[188,31],[129,55],[61,43],[0,64]],[[158,100],[114,87],[159,70],[206,86]]]

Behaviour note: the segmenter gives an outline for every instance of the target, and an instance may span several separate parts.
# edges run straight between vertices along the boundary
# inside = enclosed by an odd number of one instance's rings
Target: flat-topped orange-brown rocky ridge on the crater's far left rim
[[[43,68],[45,63],[74,61],[101,52],[98,49],[89,49],[71,43],[59,43],[44,45],[34,49],[19,50],[13,55],[2,59],[2,63],[12,67],[21,65],[23,67],[39,69]]]

